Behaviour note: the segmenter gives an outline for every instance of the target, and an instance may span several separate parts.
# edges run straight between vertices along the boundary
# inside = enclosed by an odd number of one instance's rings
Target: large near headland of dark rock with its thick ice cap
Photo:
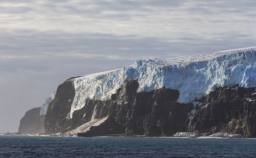
[[[137,60],[70,78],[44,106],[45,134],[256,137],[255,51]]]

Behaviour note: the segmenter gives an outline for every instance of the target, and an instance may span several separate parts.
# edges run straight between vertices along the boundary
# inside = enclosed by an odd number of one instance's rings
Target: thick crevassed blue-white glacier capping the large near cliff
[[[70,118],[75,110],[85,105],[88,98],[110,100],[111,95],[127,80],[137,80],[137,93],[162,87],[178,90],[177,102],[185,104],[206,97],[214,89],[224,86],[256,87],[255,52],[256,47],[249,47],[167,59],[137,60],[121,69],[70,79],[76,93]]]

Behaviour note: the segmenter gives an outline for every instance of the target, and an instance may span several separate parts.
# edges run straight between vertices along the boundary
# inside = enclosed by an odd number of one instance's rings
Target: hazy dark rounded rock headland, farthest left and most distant
[[[36,125],[40,115],[41,108],[33,108],[28,110],[20,120],[19,133],[29,134],[33,127]]]

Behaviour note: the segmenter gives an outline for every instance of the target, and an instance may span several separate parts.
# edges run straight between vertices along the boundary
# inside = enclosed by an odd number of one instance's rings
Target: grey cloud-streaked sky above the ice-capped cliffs
[[[1,0],[0,132],[70,77],[256,46],[255,0]]]

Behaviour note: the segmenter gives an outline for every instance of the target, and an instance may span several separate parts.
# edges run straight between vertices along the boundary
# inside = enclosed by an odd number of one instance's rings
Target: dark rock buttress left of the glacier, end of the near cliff
[[[65,81],[58,86],[55,98],[49,103],[45,115],[45,134],[55,134],[69,127],[66,120],[75,97],[71,81]]]

